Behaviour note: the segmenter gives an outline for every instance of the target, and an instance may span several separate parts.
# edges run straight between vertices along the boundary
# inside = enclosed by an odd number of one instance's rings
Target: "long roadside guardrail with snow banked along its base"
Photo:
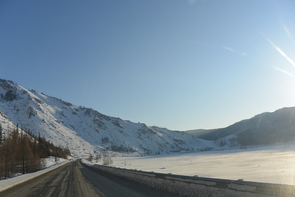
[[[181,196],[295,196],[295,185],[183,176],[82,164],[145,185],[179,193]]]

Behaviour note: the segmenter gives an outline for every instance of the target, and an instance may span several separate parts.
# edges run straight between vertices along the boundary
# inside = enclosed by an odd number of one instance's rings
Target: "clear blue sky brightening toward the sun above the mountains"
[[[295,1],[0,1],[0,78],[171,130],[295,106]]]

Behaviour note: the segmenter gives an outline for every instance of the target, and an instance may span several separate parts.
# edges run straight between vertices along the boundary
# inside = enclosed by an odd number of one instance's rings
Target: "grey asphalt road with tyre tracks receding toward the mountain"
[[[5,190],[0,196],[173,197],[179,195],[85,167],[76,160]]]

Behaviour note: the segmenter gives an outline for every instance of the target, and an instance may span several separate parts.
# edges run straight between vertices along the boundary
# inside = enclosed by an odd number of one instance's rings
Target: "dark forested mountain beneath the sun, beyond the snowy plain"
[[[206,140],[226,138],[246,145],[273,144],[295,140],[295,107],[260,113],[226,128],[186,131]],[[218,144],[218,143],[217,143]]]

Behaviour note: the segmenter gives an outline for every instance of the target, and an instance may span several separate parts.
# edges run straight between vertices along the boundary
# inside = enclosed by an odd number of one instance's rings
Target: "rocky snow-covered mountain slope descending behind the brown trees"
[[[27,90],[13,81],[0,79],[0,96],[3,117],[24,129],[40,132],[54,144],[68,146],[76,156],[111,150],[156,154],[217,147],[213,141],[183,131],[106,116],[91,108]]]

